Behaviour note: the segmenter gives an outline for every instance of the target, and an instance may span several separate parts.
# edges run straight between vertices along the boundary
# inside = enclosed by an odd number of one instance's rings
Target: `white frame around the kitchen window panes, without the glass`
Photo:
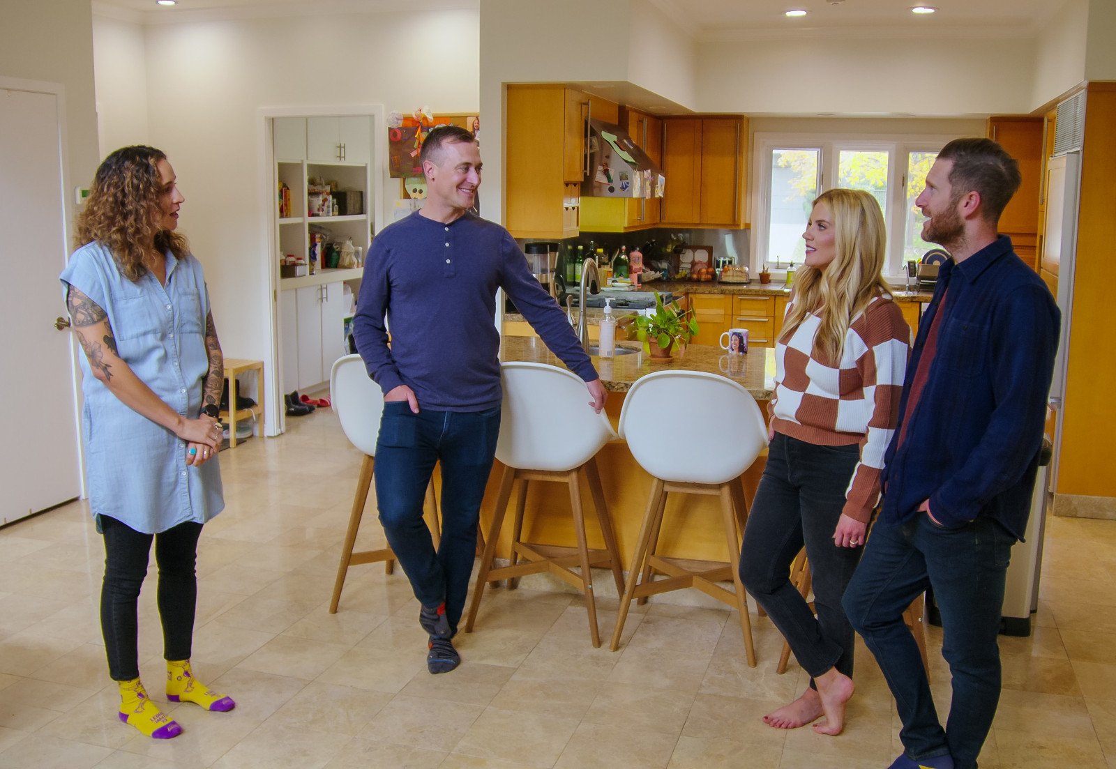
[[[764,263],[769,244],[769,217],[771,213],[771,153],[775,150],[816,150],[819,152],[818,169],[821,192],[834,186],[839,169],[841,151],[887,152],[887,258],[884,262],[884,276],[903,279],[903,244],[906,240],[906,185],[907,166],[911,153],[939,153],[949,142],[956,138],[953,134],[814,134],[814,133],[773,133],[757,132],[753,137],[753,177],[752,189],[758,194],[752,196],[752,232],[749,243],[752,272],[758,272]],[[819,193],[820,194],[820,193]],[[806,222],[802,222],[806,230]],[[898,237],[896,237],[898,235]],[[772,269],[773,275],[783,276],[786,266]]]

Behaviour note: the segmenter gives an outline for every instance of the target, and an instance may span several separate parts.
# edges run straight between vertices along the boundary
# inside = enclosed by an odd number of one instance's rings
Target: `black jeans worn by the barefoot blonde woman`
[[[853,627],[840,599],[860,548],[837,547],[833,536],[859,456],[856,443],[825,446],[776,433],[744,529],[740,580],[811,676],[835,666],[853,675]],[[804,545],[817,618],[789,579]]]

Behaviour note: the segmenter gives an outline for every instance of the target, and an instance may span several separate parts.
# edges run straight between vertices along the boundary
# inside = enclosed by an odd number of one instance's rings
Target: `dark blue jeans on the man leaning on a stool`
[[[421,406],[420,406],[421,407]],[[500,434],[500,407],[481,412],[411,412],[405,401],[384,404],[376,442],[379,521],[415,598],[445,602],[453,632],[465,606],[477,551],[477,521]],[[434,464],[442,465],[442,540],[437,552],[422,518]]]

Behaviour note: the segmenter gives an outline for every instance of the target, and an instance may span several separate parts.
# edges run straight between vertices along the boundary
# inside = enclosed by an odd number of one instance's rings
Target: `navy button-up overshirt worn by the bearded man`
[[[960,263],[946,262],[907,365],[901,420],[940,310],[945,315],[925,388],[902,445],[901,421],[884,458],[882,515],[907,520],[929,499],[945,527],[990,516],[1021,538],[1042,445],[1058,307],[1007,237]]]

